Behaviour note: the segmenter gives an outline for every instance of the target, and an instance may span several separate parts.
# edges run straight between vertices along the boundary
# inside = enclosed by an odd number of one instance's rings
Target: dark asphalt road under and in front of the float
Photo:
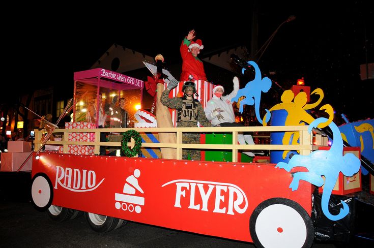
[[[30,201],[29,173],[0,172],[0,247],[255,247],[240,242],[129,222],[107,233],[94,232],[84,216],[55,223]],[[340,247],[315,242],[313,248]],[[364,247],[351,246],[351,247]]]

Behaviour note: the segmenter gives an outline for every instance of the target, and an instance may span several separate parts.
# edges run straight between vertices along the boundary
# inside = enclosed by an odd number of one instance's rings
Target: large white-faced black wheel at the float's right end
[[[311,247],[314,228],[310,216],[295,201],[272,198],[251,214],[249,231],[257,248]]]

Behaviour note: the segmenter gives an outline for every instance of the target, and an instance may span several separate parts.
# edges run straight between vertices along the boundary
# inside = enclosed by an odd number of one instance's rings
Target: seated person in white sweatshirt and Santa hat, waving
[[[244,127],[240,122],[235,122],[235,114],[233,109],[233,103],[231,99],[234,98],[239,90],[239,79],[234,77],[234,90],[223,96],[224,88],[222,85],[216,85],[213,88],[213,97],[208,101],[205,107],[205,115],[211,121],[214,127]],[[245,145],[246,141],[249,145],[253,145],[253,137],[249,134],[243,135],[238,134],[239,144]],[[254,153],[250,151],[243,152],[244,154],[254,157]],[[262,152],[261,152],[262,153]]]

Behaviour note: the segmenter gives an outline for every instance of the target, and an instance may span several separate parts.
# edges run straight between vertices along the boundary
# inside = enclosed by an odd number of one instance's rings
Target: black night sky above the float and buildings
[[[193,8],[183,2],[180,3],[186,5],[183,14],[162,8],[146,11],[125,7],[114,12],[101,10],[82,15],[72,12],[74,18],[69,22],[74,24],[56,24],[51,29],[46,28],[46,20],[40,19],[37,25],[22,25],[22,29],[32,28],[33,36],[13,42],[12,46],[17,47],[13,64],[23,63],[20,72],[44,73],[42,78],[34,78],[22,87],[23,90],[35,84],[66,83],[72,91],[73,72],[89,69],[113,43],[150,56],[161,53],[170,64],[181,61],[179,46],[191,29],[195,29],[197,39],[203,40],[205,48],[200,55],[233,45],[250,48],[253,6],[249,4],[251,1],[247,2],[204,9],[197,2]],[[261,2],[257,11],[259,47],[284,20],[296,16],[279,28],[258,61],[262,72],[285,88],[304,77],[312,90],[316,87],[324,90],[323,103],[330,103],[337,114],[346,113],[351,121],[373,118],[373,79],[360,80],[360,65],[374,63],[372,4],[369,1],[258,2]],[[44,62],[36,63],[36,58]],[[34,63],[38,69],[34,69]],[[276,74],[269,75],[270,71]]]

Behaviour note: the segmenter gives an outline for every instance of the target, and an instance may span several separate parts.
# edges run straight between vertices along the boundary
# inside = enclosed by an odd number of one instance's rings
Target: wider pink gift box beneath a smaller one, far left
[[[0,164],[0,171],[17,171],[29,154],[30,152],[2,152],[2,163]],[[33,158],[30,158],[22,167],[21,171],[31,171],[32,165]]]

